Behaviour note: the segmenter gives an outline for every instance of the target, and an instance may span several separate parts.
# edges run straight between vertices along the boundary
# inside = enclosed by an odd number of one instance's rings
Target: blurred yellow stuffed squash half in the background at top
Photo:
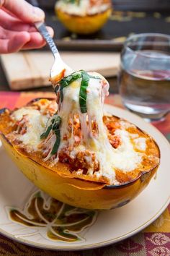
[[[58,20],[71,32],[88,35],[100,30],[112,13],[110,0],[59,0]]]

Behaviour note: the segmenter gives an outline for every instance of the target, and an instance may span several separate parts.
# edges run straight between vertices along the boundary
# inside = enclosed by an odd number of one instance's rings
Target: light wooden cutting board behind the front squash
[[[61,52],[63,61],[73,70],[96,71],[104,77],[117,74],[120,54],[102,52]],[[49,74],[53,55],[48,51],[23,51],[1,55],[1,64],[12,90],[50,85]]]

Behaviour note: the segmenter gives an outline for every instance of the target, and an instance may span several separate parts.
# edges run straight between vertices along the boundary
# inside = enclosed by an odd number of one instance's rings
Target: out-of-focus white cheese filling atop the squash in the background
[[[80,4],[67,3],[66,1],[60,0],[57,2],[56,7],[68,14],[86,16],[104,12],[110,7],[110,4],[101,3],[91,7],[89,0],[81,0]]]

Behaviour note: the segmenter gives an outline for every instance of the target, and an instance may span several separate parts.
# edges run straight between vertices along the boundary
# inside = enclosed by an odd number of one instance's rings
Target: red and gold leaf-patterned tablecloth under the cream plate
[[[53,93],[0,93],[0,108],[23,106],[32,98],[53,97]],[[122,107],[119,95],[109,95],[107,102]],[[165,121],[154,122],[170,141],[170,114]],[[0,235],[0,255],[68,255],[68,256],[170,256],[170,205],[150,226],[120,243],[80,252],[53,252],[13,242]]]

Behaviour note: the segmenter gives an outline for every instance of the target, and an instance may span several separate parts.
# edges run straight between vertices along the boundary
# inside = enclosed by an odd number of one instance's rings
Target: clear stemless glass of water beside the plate
[[[170,36],[137,34],[125,41],[118,77],[122,102],[146,119],[170,111]]]

